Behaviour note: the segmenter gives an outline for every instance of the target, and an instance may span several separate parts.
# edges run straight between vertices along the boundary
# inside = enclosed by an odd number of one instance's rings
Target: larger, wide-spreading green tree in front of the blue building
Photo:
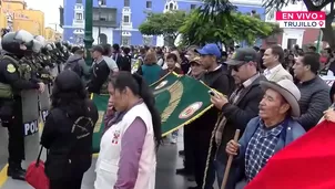
[[[180,32],[184,44],[221,42],[225,45],[246,41],[253,44],[258,38],[277,32],[278,25],[261,20],[255,11],[237,12],[229,0],[203,0],[203,6],[192,12]]]

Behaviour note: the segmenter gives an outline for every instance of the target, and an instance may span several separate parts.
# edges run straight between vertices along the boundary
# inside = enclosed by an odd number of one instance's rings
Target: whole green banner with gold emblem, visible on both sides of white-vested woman
[[[190,76],[170,73],[150,87],[155,96],[156,108],[161,113],[163,136],[191,123],[212,107],[207,93],[210,88]],[[99,111],[99,120],[93,133],[93,153],[99,153],[108,99],[108,95],[92,95]]]

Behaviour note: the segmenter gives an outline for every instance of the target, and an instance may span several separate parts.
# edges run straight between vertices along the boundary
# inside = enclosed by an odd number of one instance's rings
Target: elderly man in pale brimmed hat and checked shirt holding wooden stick
[[[235,156],[235,162],[226,189],[243,188],[273,155],[305,134],[294,119],[301,114],[301,93],[296,85],[290,80],[282,80],[277,83],[261,82],[261,86],[265,94],[258,116],[248,122],[238,143],[227,143],[226,153]]]

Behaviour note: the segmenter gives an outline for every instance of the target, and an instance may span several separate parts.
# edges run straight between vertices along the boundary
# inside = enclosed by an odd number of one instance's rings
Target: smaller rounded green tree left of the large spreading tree
[[[139,30],[145,35],[163,35],[173,42],[179,35],[179,29],[186,19],[184,11],[171,11],[166,13],[148,13],[148,19]]]

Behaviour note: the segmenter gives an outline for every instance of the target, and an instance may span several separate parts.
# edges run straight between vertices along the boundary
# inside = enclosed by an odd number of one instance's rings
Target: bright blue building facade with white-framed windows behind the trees
[[[256,11],[265,19],[262,0],[231,0],[242,13]],[[84,0],[64,0],[63,39],[71,43],[83,43]],[[98,43],[122,45],[162,45],[162,36],[142,35],[139,27],[146,12],[169,10],[190,11],[201,6],[201,0],[93,0],[93,39]],[[100,38],[99,38],[100,36]]]

